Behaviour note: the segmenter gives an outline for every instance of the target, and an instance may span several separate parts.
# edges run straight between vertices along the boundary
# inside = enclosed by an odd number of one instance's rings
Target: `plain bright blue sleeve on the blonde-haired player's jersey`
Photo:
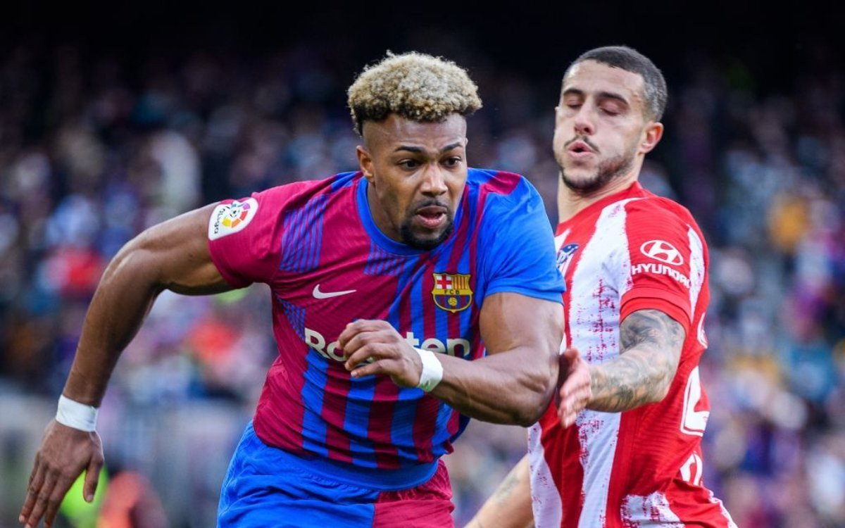
[[[488,278],[500,291],[562,302],[564,279],[554,264],[554,237],[542,198],[526,178],[507,195],[491,195],[479,242]]]

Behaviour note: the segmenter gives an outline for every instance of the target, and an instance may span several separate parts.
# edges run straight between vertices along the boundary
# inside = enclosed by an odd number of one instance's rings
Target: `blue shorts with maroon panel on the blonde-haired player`
[[[454,526],[441,460],[370,470],[270,447],[252,423],[237,445],[217,511],[218,528],[443,528]]]

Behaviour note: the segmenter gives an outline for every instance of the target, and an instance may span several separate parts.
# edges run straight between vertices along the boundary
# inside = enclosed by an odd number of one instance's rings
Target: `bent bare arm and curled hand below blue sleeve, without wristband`
[[[507,292],[488,296],[480,314],[488,357],[470,362],[438,354],[443,378],[431,394],[485,422],[537,422],[553,396],[562,328],[557,302]],[[353,377],[386,374],[402,387],[419,383],[420,357],[387,322],[355,321],[338,340]]]

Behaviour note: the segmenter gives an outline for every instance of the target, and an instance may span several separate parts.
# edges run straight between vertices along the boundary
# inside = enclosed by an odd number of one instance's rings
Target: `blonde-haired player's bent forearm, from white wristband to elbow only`
[[[548,407],[558,376],[555,353],[520,348],[466,361],[439,355],[443,379],[432,395],[455,410],[485,422],[537,422]]]

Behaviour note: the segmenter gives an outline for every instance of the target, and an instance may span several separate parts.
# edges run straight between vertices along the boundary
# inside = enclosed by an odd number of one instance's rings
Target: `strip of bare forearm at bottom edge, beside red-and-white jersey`
[[[522,457],[466,528],[526,528],[533,524],[531,473]]]

